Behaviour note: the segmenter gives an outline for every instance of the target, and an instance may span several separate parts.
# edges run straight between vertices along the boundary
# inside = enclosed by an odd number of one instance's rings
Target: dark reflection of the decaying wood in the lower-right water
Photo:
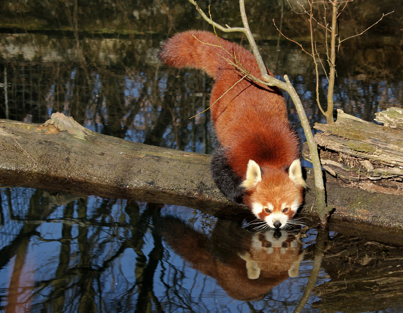
[[[403,306],[403,247],[338,234],[322,268],[331,280],[317,286],[314,308],[359,313]]]

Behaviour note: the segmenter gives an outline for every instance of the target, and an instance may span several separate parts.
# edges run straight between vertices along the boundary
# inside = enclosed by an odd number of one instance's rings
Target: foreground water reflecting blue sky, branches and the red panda
[[[254,217],[241,208],[214,217],[28,188],[2,189],[1,201],[5,312],[288,312],[312,267],[293,234],[243,228]]]

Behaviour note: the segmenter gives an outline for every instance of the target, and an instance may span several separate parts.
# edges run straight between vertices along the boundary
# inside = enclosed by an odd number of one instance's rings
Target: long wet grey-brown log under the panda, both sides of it
[[[105,136],[52,116],[44,125],[0,120],[0,187],[44,189],[59,204],[69,201],[62,194],[70,194],[183,205],[212,215],[245,210],[214,185],[209,155]],[[309,223],[316,221],[312,169],[306,169],[306,180],[301,213]],[[350,221],[346,234],[403,244],[402,196],[343,188],[330,175],[326,180],[327,201],[335,207],[331,225],[340,229]]]

